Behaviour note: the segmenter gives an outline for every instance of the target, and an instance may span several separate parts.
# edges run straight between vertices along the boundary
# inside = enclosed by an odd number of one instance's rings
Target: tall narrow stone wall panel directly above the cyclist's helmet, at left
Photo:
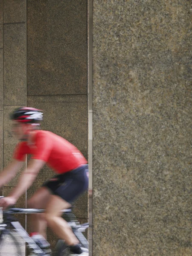
[[[4,25],[4,105],[26,104],[26,25]]]

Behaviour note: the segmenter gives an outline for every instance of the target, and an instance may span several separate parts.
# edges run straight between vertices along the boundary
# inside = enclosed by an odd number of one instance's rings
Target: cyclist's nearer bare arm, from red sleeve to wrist
[[[13,189],[9,196],[16,200],[28,189],[34,182],[38,172],[46,162],[40,159],[31,159],[27,165],[27,171],[23,171],[17,186]]]

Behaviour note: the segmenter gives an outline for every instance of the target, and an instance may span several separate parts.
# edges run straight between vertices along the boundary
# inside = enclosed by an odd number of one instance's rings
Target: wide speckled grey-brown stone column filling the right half
[[[93,0],[93,255],[192,255],[192,3]]]

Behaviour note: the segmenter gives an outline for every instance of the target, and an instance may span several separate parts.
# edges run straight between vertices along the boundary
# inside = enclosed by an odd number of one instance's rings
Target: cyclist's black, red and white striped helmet
[[[43,113],[37,108],[21,107],[13,111],[11,119],[17,122],[38,124],[43,120]]]

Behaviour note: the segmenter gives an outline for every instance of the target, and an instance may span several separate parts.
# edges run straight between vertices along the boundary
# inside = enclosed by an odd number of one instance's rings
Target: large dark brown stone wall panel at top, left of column
[[[27,1],[28,95],[87,94],[87,0]]]

